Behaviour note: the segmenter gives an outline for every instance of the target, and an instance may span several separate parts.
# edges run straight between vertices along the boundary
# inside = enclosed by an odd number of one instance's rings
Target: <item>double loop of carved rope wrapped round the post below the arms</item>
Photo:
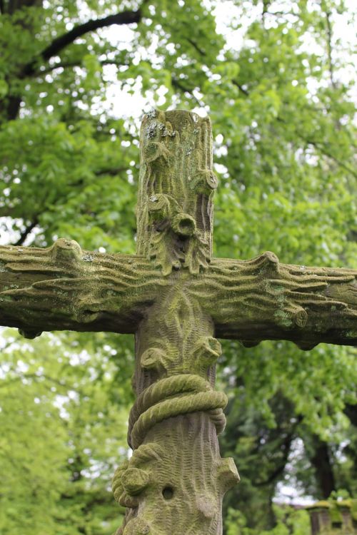
[[[180,374],[161,379],[141,392],[129,417],[129,445],[136,449],[155,424],[180,414],[207,412],[221,433],[226,425],[223,408],[227,397],[202,377]]]

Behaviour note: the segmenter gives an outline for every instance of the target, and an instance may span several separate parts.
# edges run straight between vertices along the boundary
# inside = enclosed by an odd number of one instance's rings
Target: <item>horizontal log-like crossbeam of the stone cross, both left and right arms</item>
[[[134,333],[175,277],[138,255],[51,248],[0,248],[0,324],[26,337],[48,330]],[[273,253],[253,260],[214,258],[187,291],[211,317],[216,336],[251,347],[292,340],[357,345],[357,271],[285,265]]]

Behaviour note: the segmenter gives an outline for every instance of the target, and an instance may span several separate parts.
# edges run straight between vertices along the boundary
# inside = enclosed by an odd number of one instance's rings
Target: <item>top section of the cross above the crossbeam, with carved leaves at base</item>
[[[211,138],[211,122],[196,113],[153,111],[142,123],[137,252],[164,275],[198,273],[211,260]]]

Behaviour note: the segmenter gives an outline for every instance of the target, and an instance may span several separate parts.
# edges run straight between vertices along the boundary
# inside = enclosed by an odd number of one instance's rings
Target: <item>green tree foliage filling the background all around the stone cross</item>
[[[357,267],[351,51],[336,36],[353,13],[343,2],[146,1],[138,24],[88,31],[51,58],[41,53],[73,26],[139,1],[0,6],[3,243],[67,237],[134,252],[139,121],[107,95],[140,91],[146,110],[210,113],[216,256],[273,250],[284,263]],[[30,344],[9,331],[4,345],[1,534],[111,533],[121,519],[109,483],[126,456],[133,341],[66,334]],[[242,477],[226,499],[226,534],[306,535],[306,515],[272,500],[282,482],[326,498],[321,444],[335,489],[356,496],[355,362],[353,348],[223,343],[221,445]]]

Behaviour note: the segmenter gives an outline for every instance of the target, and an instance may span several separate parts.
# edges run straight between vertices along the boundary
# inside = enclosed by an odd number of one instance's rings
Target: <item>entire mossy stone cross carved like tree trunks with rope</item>
[[[141,128],[137,255],[0,248],[0,323],[41,331],[135,333],[137,399],[130,461],[116,471],[125,535],[221,534],[221,501],[238,481],[221,459],[226,396],[215,392],[218,338],[357,345],[357,271],[211,259],[211,125],[186,111]],[[123,531],[124,530],[124,531]]]

